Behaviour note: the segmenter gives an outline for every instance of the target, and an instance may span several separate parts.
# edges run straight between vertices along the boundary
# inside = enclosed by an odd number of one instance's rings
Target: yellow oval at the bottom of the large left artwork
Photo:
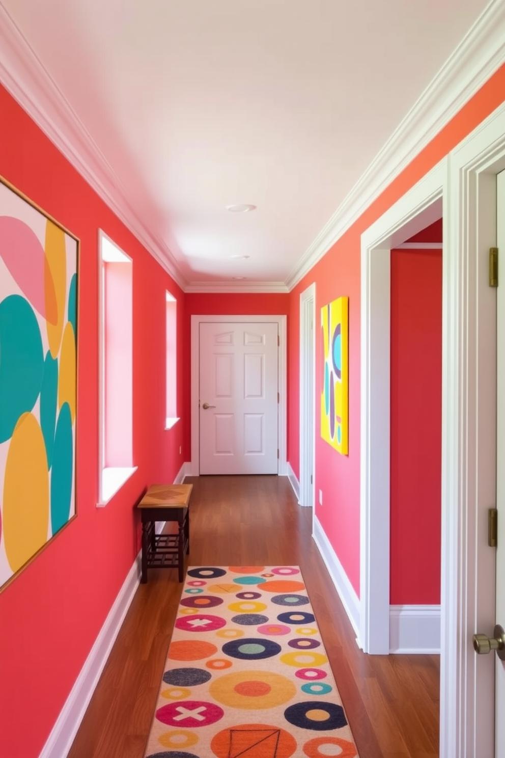
[[[12,572],[48,538],[49,475],[39,421],[23,413],[14,428],[5,462],[3,534]]]

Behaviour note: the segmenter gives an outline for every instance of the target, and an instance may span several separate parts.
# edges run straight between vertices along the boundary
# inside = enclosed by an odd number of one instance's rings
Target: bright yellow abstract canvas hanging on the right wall
[[[338,297],[321,309],[321,437],[343,455],[348,454],[349,428],[348,312],[348,297]]]

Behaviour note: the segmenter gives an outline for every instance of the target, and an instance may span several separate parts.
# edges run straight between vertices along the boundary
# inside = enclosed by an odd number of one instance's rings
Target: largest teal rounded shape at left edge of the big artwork
[[[20,295],[0,302],[0,443],[12,437],[17,419],[31,411],[44,375],[39,322]]]

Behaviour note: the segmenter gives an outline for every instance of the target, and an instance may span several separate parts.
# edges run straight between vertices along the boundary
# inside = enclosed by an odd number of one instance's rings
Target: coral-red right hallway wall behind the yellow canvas
[[[321,340],[316,344],[316,506],[322,525],[344,572],[360,594],[360,239],[361,234],[401,198],[451,149],[505,100],[505,66],[460,109],[428,146],[366,208],[316,265],[291,290],[290,344],[300,340],[300,294],[316,283],[316,320],[320,309],[338,296],[349,296],[349,454],[339,455],[320,437]],[[427,240],[425,240],[427,241]],[[438,240],[435,240],[438,241]],[[298,354],[291,351],[288,408],[290,450],[298,449]],[[323,506],[319,505],[323,491]],[[407,600],[407,602],[416,602]]]

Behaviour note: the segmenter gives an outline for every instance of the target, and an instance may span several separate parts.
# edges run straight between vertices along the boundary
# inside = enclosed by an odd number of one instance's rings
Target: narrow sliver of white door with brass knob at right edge
[[[497,176],[497,510],[496,623],[505,628],[505,171]],[[495,758],[505,756],[505,661],[496,655]]]

